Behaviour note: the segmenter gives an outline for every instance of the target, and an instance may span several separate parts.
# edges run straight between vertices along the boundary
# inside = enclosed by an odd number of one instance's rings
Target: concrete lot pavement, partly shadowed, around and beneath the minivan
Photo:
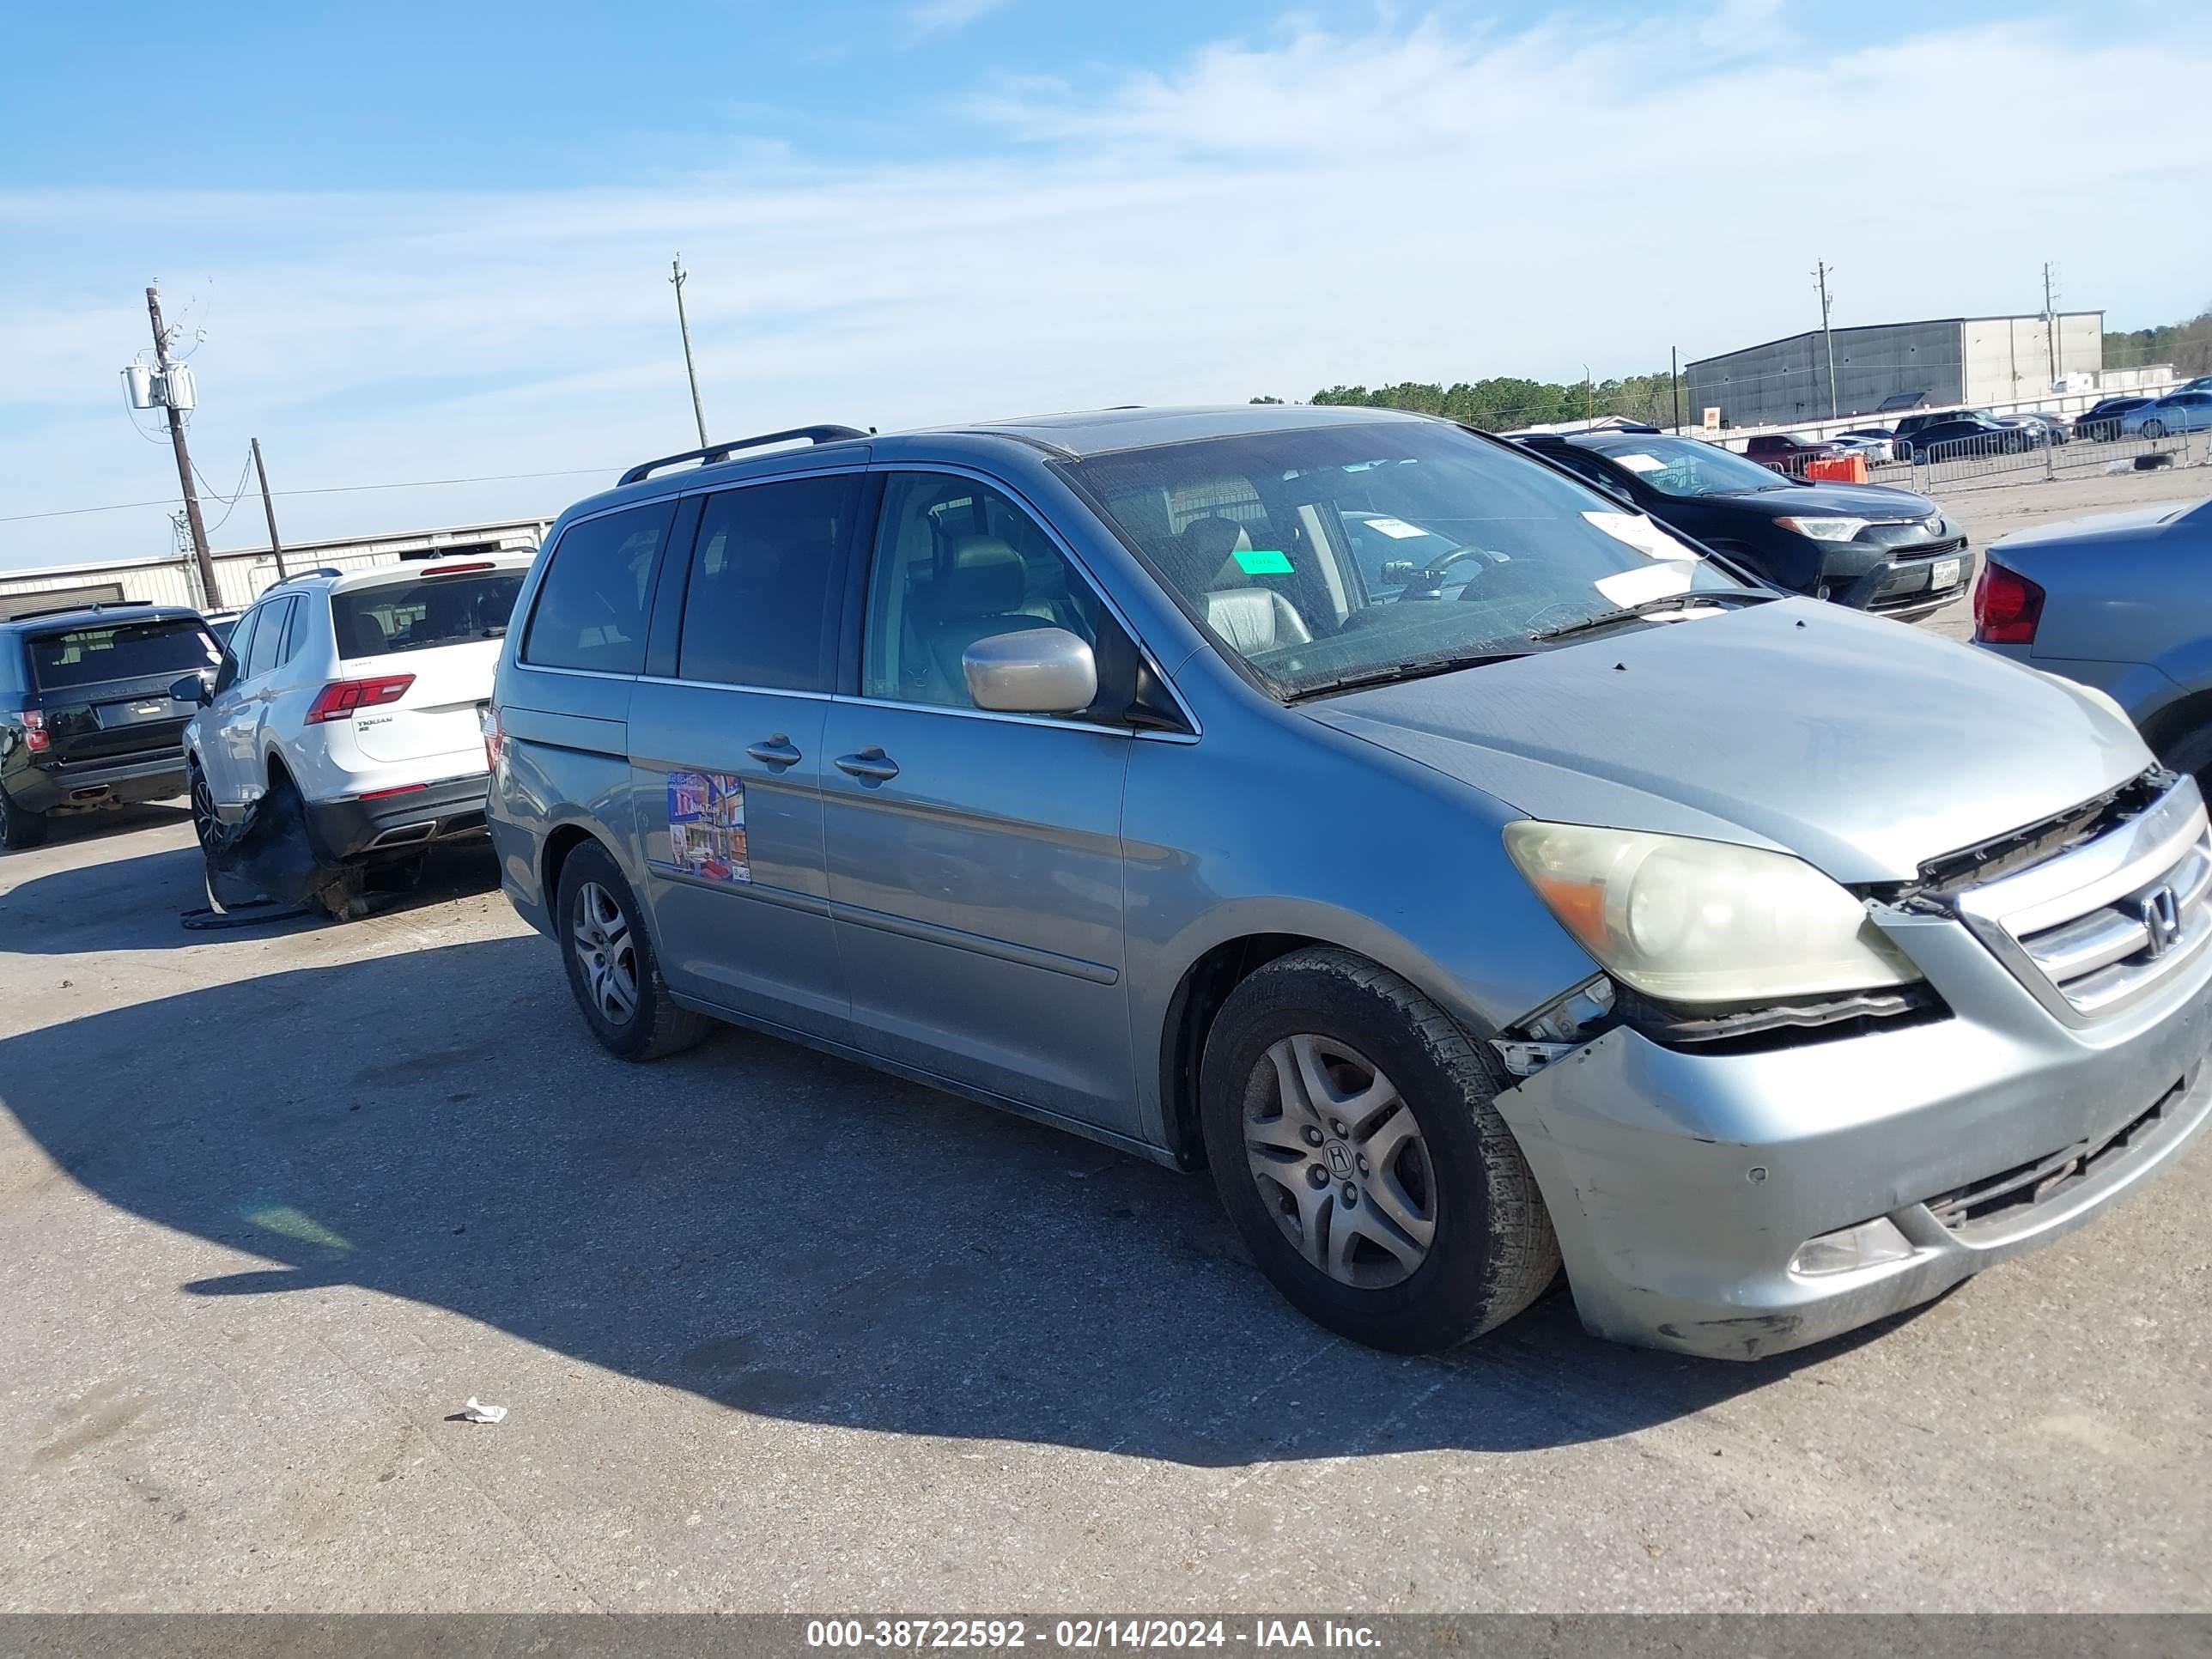
[[[608,1060],[487,858],[197,902],[173,807],[0,858],[4,1610],[2212,1610],[2212,1150],[1809,1354],[1405,1360],[1203,1179]]]

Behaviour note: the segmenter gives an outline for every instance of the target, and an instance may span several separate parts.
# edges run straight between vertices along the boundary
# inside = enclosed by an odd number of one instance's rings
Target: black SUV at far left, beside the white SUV
[[[0,622],[0,847],[35,847],[53,812],[186,792],[168,695],[221,650],[197,611],[95,604]]]

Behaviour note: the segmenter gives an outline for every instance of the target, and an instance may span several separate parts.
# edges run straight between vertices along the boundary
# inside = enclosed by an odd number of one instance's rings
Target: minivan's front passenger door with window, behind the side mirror
[[[1099,599],[1006,493],[889,473],[860,697],[830,706],[823,827],[854,1042],[993,1095],[1137,1133],[1121,984],[1130,734],[978,710],[995,633],[1097,637]]]

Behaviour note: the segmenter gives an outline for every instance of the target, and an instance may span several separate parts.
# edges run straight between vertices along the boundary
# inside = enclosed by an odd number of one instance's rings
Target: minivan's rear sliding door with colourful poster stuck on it
[[[823,869],[823,726],[865,476],[708,495],[666,672],[630,695],[661,971],[684,995],[849,1035]],[[661,624],[655,650],[661,650]]]

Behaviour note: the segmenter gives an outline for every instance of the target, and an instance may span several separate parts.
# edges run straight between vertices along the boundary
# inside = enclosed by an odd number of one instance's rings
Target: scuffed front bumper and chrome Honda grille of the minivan
[[[1931,1018],[1781,1044],[1615,1026],[1498,1097],[1584,1323],[1761,1358],[2064,1237],[2212,1117],[2212,841],[2197,785],[1880,927]]]

